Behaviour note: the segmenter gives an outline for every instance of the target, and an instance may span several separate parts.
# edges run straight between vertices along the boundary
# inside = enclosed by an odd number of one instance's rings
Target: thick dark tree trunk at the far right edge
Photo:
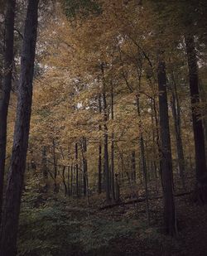
[[[200,118],[200,114],[196,113],[196,106],[200,103],[200,92],[194,36],[192,36],[191,34],[185,36],[185,45],[188,58],[190,98],[195,142],[195,168],[197,180],[196,196],[200,202],[206,203],[207,169],[205,158],[205,136],[202,119]]]

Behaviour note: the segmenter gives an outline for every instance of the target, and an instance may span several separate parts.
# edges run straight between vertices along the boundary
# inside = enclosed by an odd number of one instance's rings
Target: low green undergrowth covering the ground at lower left
[[[43,198],[26,188],[22,199],[18,255],[95,254],[114,239],[128,238],[145,229],[138,220],[87,217],[85,210],[71,207],[69,200]]]

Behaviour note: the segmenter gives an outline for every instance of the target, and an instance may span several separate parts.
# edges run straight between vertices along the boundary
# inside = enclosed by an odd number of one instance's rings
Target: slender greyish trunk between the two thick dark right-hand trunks
[[[172,76],[173,88],[171,89],[171,110],[172,116],[174,119],[174,127],[176,131],[176,153],[178,158],[178,169],[181,176],[182,186],[185,189],[185,161],[184,153],[182,147],[182,138],[181,138],[181,109],[179,104],[179,99],[176,91],[176,83]]]

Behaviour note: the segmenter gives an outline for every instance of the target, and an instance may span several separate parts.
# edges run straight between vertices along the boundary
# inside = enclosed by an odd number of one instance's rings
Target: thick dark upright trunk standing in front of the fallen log
[[[162,61],[160,61],[158,64],[158,89],[161,129],[161,176],[164,199],[164,225],[167,234],[175,235],[177,233],[177,227],[176,210],[173,198],[171,138],[166,94],[166,67],[165,63]]]

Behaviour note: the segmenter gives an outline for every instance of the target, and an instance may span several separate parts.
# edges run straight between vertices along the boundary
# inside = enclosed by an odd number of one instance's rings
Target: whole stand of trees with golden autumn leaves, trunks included
[[[16,254],[24,180],[34,176],[42,193],[85,196],[88,206],[95,194],[106,207],[141,195],[148,225],[161,194],[175,236],[174,196],[191,191],[189,176],[195,201],[207,202],[205,0],[7,0],[4,9],[1,255]]]

